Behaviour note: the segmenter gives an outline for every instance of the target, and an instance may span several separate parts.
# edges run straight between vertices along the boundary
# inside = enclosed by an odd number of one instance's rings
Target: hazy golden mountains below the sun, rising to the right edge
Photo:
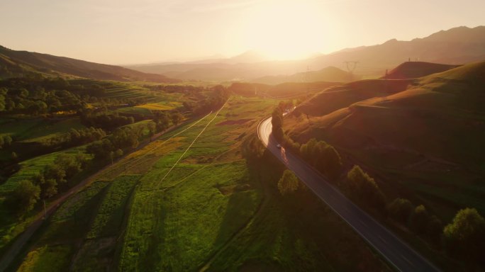
[[[485,60],[485,26],[458,27],[409,41],[388,40],[380,45],[347,48],[306,60],[268,61],[250,51],[229,59],[129,66],[140,72],[164,74],[181,80],[254,81],[267,76],[291,75],[333,66],[347,70],[345,62],[358,62],[354,73],[382,77],[386,69],[407,60],[465,64]],[[350,64],[352,70],[353,64]]]

